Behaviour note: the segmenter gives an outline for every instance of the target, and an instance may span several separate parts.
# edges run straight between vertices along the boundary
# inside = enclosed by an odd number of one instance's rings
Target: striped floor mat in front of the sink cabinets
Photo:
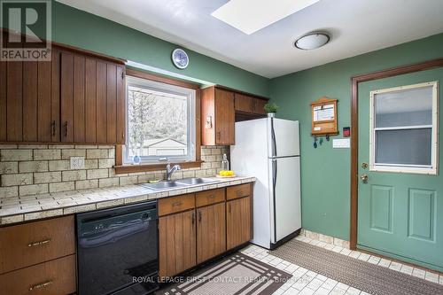
[[[156,294],[268,295],[290,278],[283,270],[236,252]]]

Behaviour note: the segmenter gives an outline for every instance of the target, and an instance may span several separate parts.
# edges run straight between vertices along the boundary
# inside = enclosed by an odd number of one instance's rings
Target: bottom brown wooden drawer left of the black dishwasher
[[[66,295],[75,292],[75,255],[0,275],[0,294]]]

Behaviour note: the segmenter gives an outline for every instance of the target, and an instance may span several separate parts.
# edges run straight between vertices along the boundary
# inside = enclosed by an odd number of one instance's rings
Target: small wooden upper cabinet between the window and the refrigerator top
[[[234,93],[216,87],[201,91],[202,144],[235,144]]]

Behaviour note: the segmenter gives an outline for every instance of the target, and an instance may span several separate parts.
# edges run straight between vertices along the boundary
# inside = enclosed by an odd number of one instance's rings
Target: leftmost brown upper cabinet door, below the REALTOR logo
[[[58,80],[52,80],[57,60],[0,62],[0,142],[53,140],[58,127],[53,124],[58,117],[52,118],[59,100]]]

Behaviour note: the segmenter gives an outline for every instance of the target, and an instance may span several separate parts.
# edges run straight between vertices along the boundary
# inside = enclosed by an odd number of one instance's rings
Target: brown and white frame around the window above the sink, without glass
[[[199,159],[200,143],[198,140],[198,86],[188,82],[180,82],[165,77],[159,77],[152,74],[147,74],[141,71],[127,69],[127,81],[125,82],[125,113],[126,113],[126,128],[125,128],[125,145],[121,147],[121,167],[135,167],[132,159],[129,159],[128,154],[128,86],[137,85],[142,87],[148,87],[151,89],[160,89],[163,91],[171,91],[175,93],[185,94],[189,98],[187,117],[188,117],[188,154],[186,156],[155,156],[155,157],[142,157],[139,168],[137,170],[150,171],[150,167],[157,169],[159,165],[163,166],[167,163],[196,163]],[[165,159],[166,158],[166,159]],[[163,159],[163,160],[160,160]],[[144,169],[145,168],[145,169]],[[127,170],[127,169],[125,169]],[[123,172],[122,172],[123,173]]]

